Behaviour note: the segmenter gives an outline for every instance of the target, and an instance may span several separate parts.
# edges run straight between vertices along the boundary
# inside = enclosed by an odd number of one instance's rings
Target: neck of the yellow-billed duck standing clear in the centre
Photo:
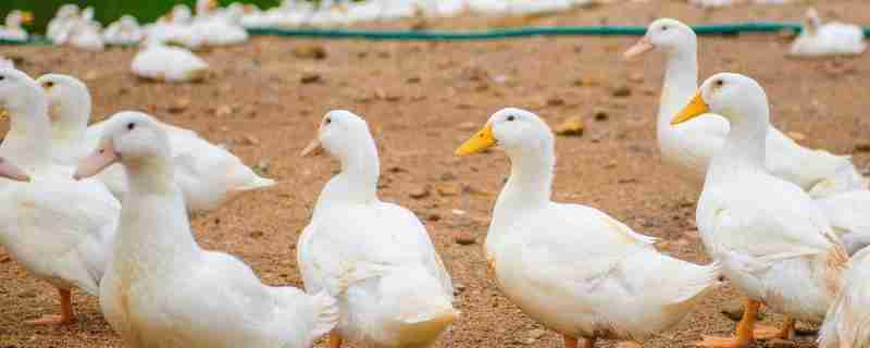
[[[510,153],[510,177],[498,195],[493,221],[501,223],[523,210],[533,210],[550,202],[556,156],[552,142],[538,148],[523,148]],[[511,153],[512,152],[512,153]]]

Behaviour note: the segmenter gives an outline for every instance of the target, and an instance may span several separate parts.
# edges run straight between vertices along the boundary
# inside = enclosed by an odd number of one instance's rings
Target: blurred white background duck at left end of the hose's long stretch
[[[213,13],[216,0],[197,0],[194,29],[208,46],[237,45],[248,40],[248,32],[226,17]]]

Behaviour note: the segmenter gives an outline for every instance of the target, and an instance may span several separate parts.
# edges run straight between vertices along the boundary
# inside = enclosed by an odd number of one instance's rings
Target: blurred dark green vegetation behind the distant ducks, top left
[[[234,0],[219,0],[222,5],[227,5]],[[281,0],[244,0],[244,3],[253,3],[261,9],[276,7]],[[187,3],[191,8],[196,0],[0,0],[0,21],[3,21],[9,11],[21,9],[34,13],[34,23],[25,29],[32,33],[45,32],[48,21],[54,16],[64,3],[75,3],[79,8],[94,7],[95,17],[108,24],[124,14],[133,14],[140,23],[153,22],[157,17],[169,12],[176,3]]]

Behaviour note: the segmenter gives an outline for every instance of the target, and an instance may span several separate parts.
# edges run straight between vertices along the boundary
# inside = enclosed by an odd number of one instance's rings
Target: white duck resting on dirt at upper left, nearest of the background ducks
[[[163,83],[190,83],[203,80],[209,75],[209,63],[188,49],[170,46],[150,38],[129,70],[141,78]]]

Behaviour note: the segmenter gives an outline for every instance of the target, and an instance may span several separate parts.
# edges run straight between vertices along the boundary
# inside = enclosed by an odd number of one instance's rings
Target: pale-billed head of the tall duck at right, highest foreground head
[[[623,53],[623,58],[633,60],[652,50],[666,53],[683,50],[694,52],[695,45],[697,45],[697,36],[689,26],[676,20],[660,18],[649,24],[646,35],[629,48]]]

